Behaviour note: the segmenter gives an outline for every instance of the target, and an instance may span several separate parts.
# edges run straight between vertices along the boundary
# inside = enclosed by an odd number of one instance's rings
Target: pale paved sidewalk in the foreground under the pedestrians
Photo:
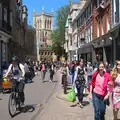
[[[63,95],[63,89],[60,83],[61,81],[59,81],[56,93],[37,120],[94,120],[92,104],[88,104],[84,108],[78,106],[70,107],[73,103],[65,100],[66,96]],[[88,98],[84,98],[84,101],[88,101]],[[110,106],[107,107],[106,120],[112,119],[112,106]]]

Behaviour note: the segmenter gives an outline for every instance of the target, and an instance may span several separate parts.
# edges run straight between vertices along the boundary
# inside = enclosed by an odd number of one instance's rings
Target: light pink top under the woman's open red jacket
[[[101,77],[100,74],[98,74],[96,77],[94,92],[104,96],[103,90],[104,90],[104,76]]]

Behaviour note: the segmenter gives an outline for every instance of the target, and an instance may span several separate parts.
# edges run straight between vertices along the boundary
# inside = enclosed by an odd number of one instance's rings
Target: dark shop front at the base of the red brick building
[[[112,39],[110,36],[111,34],[109,33],[93,41],[94,62],[112,63]]]

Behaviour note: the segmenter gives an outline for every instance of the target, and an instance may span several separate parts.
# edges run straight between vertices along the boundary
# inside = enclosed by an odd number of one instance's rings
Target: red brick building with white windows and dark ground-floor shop
[[[101,61],[112,63],[112,2],[93,1],[93,48]],[[95,60],[96,57],[94,57]]]

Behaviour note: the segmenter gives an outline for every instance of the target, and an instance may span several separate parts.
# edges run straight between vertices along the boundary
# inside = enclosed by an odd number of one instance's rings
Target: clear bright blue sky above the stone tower
[[[73,0],[73,2],[77,2],[80,0]],[[29,17],[29,24],[32,24],[32,13],[35,9],[37,12],[41,12],[42,6],[44,6],[44,9],[46,12],[51,12],[51,9],[54,9],[54,12],[58,8],[60,8],[63,5],[66,5],[69,3],[69,0],[23,0],[23,3],[27,5],[28,8],[28,17]],[[56,15],[56,14],[55,14]]]

